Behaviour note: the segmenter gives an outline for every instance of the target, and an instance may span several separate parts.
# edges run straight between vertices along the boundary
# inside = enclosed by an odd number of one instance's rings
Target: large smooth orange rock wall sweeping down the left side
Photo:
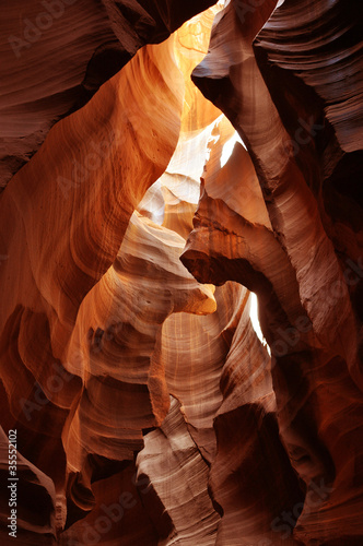
[[[60,437],[90,351],[90,337],[75,337],[68,356],[80,304],[112,265],[133,209],[165,170],[178,139],[183,79],[171,47],[143,49],[83,109],[59,122],[1,199],[2,405],[11,412],[9,428],[33,430],[22,454],[58,491],[67,459]],[[140,110],[129,84],[137,73],[144,79]],[[58,509],[63,525],[63,501]]]

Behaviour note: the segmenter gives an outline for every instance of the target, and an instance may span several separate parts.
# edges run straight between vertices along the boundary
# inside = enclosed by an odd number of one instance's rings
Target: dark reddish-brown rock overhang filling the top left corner
[[[145,44],[213,2],[5,2],[0,23],[0,187],[59,119],[82,107]]]

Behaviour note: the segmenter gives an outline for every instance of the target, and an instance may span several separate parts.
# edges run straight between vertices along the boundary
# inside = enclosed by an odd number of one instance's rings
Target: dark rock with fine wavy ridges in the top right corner
[[[305,0],[298,7],[285,1],[255,43],[257,52],[266,51],[269,67],[266,74],[271,75],[267,81],[277,105],[281,106],[281,117],[289,124],[295,121],[298,130],[296,114],[304,117],[324,114],[347,153],[363,146],[362,20],[362,11],[354,1]],[[308,102],[311,91],[315,93],[313,104]],[[304,102],[305,111],[296,108],[292,95]]]

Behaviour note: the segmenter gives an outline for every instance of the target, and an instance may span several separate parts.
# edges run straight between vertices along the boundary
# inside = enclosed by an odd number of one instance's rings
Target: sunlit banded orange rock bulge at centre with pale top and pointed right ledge
[[[198,285],[179,261],[184,244],[174,232],[134,215],[116,261],[80,307],[67,360],[83,377],[83,390],[63,431],[69,498],[80,509],[91,494],[90,454],[132,460],[143,446],[142,429],[161,425],[167,414],[164,364],[155,348],[166,318],[215,310],[211,289]]]

